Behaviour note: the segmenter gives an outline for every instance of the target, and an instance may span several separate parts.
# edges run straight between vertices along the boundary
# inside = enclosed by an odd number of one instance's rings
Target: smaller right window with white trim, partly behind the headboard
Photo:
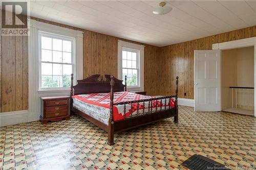
[[[118,78],[127,76],[127,89],[143,90],[144,46],[118,40]]]

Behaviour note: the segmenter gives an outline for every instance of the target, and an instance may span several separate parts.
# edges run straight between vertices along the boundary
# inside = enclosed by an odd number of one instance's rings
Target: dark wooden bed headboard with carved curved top
[[[122,80],[116,78],[113,79],[115,82],[114,91],[126,91],[126,85],[123,85]],[[125,76],[126,80],[126,76]],[[110,75],[93,75],[83,80],[77,80],[77,85],[73,86],[73,74],[71,75],[71,96],[77,94],[88,94],[88,93],[108,93],[110,92],[111,76]],[[126,84],[126,81],[125,81]],[[74,94],[73,94],[74,89]]]

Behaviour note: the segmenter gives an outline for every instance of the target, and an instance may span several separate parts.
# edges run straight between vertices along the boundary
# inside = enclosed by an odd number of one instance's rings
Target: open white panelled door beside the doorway
[[[221,51],[195,50],[195,111],[221,111]]]

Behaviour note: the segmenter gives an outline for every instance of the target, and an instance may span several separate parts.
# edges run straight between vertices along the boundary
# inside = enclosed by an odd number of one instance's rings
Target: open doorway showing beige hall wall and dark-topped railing
[[[222,50],[221,110],[254,115],[254,46]]]

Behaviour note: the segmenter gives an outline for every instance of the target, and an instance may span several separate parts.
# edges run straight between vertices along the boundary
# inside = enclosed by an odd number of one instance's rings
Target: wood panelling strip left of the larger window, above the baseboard
[[[28,109],[28,37],[0,36],[0,112]]]

